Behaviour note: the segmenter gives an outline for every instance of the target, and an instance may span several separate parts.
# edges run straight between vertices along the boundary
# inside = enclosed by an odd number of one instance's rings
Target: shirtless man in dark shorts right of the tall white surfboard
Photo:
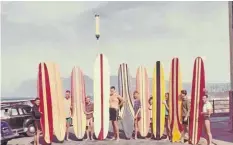
[[[116,93],[115,87],[112,86],[110,88],[110,98],[109,98],[109,116],[110,121],[112,121],[112,128],[115,140],[119,140],[119,127],[118,127],[118,113],[119,113],[119,106],[124,103],[123,98]]]

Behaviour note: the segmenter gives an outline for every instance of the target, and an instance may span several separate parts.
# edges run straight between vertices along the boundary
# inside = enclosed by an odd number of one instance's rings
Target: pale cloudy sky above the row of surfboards
[[[132,76],[143,65],[151,77],[161,61],[168,79],[179,57],[183,81],[191,82],[201,56],[208,82],[229,82],[228,21],[227,2],[1,2],[2,90],[36,79],[44,61],[59,64],[62,77],[76,65],[92,78],[99,52],[112,75],[125,62]]]

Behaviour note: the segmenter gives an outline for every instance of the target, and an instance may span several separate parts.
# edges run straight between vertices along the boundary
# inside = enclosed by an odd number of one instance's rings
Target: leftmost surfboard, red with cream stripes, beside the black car
[[[53,110],[52,97],[50,91],[50,80],[47,64],[40,63],[37,79],[37,94],[40,98],[41,129],[44,141],[47,144],[52,142],[53,138]]]

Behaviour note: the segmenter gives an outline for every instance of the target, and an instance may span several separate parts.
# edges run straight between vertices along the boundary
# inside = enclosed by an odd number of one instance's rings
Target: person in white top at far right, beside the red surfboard
[[[207,142],[208,145],[212,145],[212,134],[211,134],[211,130],[210,130],[210,115],[213,111],[212,105],[211,103],[208,101],[208,95],[204,95],[202,97],[203,100],[203,112],[201,113],[204,116],[204,127],[205,127],[205,131],[206,134],[208,136],[207,138]]]

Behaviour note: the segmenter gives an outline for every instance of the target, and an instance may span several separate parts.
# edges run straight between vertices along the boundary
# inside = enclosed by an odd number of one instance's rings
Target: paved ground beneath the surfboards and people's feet
[[[229,118],[213,119],[211,121],[212,134],[214,138],[214,144],[216,145],[233,145],[233,132],[230,132]],[[111,131],[110,127],[110,131]],[[53,140],[53,145],[183,145],[181,143],[170,143],[165,140],[151,140],[151,139],[138,139],[138,140],[126,140],[124,139],[123,132],[121,132],[120,141],[114,141],[106,139],[104,141],[78,141],[73,133],[72,128],[70,128],[70,141],[64,141],[63,143]],[[112,132],[109,132],[112,136]],[[8,145],[31,145],[33,143],[33,137],[19,137],[8,142]],[[42,137],[40,138],[40,144],[46,145]],[[202,137],[199,145],[207,145],[206,140]]]

